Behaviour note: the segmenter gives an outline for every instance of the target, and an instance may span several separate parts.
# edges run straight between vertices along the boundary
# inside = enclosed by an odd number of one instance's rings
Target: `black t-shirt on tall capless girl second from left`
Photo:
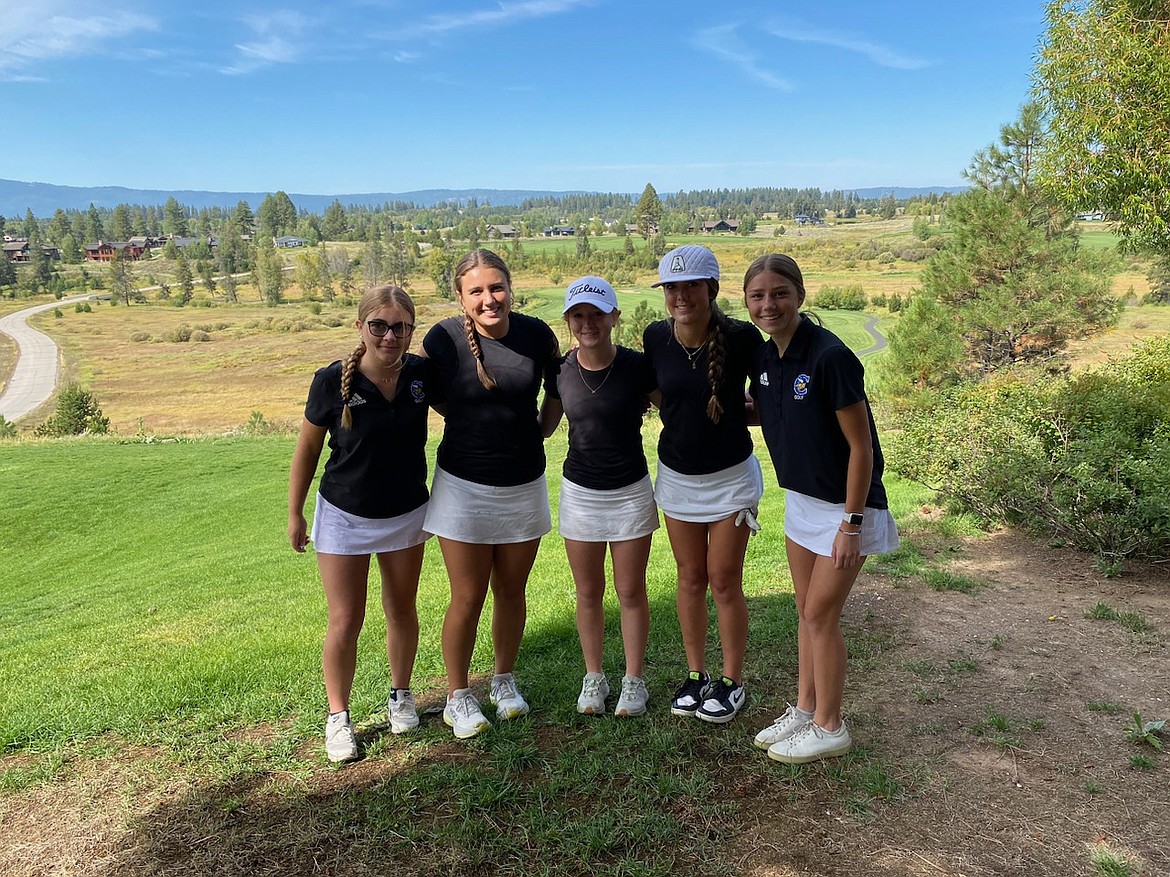
[[[435,462],[476,484],[526,484],[544,471],[536,399],[542,380],[546,388],[553,380],[557,337],[543,320],[512,312],[508,334],[479,341],[495,389],[480,382],[462,317],[440,320],[422,339],[438,374],[431,401],[446,406]]]

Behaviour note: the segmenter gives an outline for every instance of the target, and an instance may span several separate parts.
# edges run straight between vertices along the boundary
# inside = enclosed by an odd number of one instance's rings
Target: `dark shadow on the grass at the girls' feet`
[[[517,672],[530,716],[454,741],[432,712],[408,737],[364,728],[365,759],[343,768],[326,766],[311,740],[300,750],[303,769],[243,767],[188,785],[135,820],[108,873],[649,876],[696,861],[704,873],[734,873],[751,852],[738,838],[755,824],[756,802],[786,788],[800,807],[803,778],[828,776],[818,766],[778,771],[751,744],[794,697],[793,599],[749,600],[749,703],[722,726],[669,713],[686,669],[673,599],[654,601],[651,615],[645,717],[578,716],[576,628],[572,619],[545,624],[525,636]],[[717,668],[714,612],[710,623]],[[620,678],[615,610],[606,624],[606,667]],[[834,768],[845,775],[844,807],[853,806],[848,774],[866,764],[859,752],[855,766]]]

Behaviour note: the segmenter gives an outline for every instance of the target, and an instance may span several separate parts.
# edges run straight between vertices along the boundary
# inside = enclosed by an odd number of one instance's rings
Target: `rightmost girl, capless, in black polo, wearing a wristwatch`
[[[776,761],[800,764],[849,751],[841,609],[866,555],[897,547],[897,527],[861,361],[800,312],[797,263],[760,256],[744,275],[743,295],[770,339],[757,353],[751,395],[786,491],[784,543],[799,615],[797,702],[756,734],[756,745]]]

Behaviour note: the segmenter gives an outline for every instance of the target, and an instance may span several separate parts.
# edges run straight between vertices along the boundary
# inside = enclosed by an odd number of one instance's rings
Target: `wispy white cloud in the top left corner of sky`
[[[111,9],[106,4],[5,4],[0,14],[0,80],[40,78],[27,74],[37,62],[104,54],[130,34],[157,29],[153,18]]]

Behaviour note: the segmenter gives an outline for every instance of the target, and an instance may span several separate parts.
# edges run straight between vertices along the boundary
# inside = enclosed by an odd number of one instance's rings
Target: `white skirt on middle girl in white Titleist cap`
[[[649,474],[615,490],[591,490],[562,478],[558,525],[563,537],[579,543],[621,543],[649,536],[659,527]]]

